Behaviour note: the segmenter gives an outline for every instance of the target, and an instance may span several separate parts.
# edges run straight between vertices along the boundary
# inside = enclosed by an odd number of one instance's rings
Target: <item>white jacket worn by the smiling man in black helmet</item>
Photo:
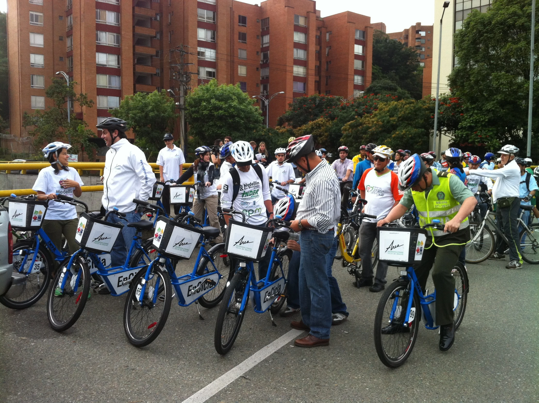
[[[103,170],[103,197],[105,210],[118,207],[121,213],[133,211],[133,199],[147,201],[153,192],[155,175],[146,161],[146,155],[127,139],[110,146]]]

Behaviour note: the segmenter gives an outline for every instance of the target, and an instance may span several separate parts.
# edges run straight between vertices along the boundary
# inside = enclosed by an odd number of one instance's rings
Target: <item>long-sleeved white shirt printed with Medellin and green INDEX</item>
[[[266,170],[260,164],[258,165],[262,169],[262,183],[260,178],[255,172],[254,168],[248,170],[248,172],[241,172],[238,167],[235,167],[239,173],[240,187],[238,196],[234,200],[234,210],[240,210],[248,218],[247,223],[254,226],[260,226],[266,223],[267,214],[265,200],[271,200],[271,194],[269,193],[269,181],[266,174]],[[221,178],[223,188],[221,189],[221,206],[230,208],[232,206],[232,194],[233,183],[232,176],[227,173]],[[235,215],[234,220],[241,221],[240,215]]]

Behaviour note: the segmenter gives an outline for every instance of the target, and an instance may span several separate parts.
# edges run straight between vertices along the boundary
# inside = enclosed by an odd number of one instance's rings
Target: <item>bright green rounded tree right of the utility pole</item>
[[[189,135],[195,144],[208,146],[226,136],[251,140],[264,121],[260,108],[253,104],[239,85],[219,85],[215,79],[199,85],[185,103]]]

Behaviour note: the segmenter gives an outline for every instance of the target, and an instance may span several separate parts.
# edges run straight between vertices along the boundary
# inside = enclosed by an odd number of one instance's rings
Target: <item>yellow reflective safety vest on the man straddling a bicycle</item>
[[[432,220],[438,219],[441,224],[453,219],[460,209],[460,203],[451,194],[449,179],[453,175],[448,172],[437,172],[440,185],[434,185],[429,195],[425,197],[425,192],[414,192],[412,190],[413,203],[416,205],[419,214],[419,225],[432,223]],[[468,217],[460,223],[459,229],[469,226]],[[427,228],[432,236],[444,236],[450,233],[444,233],[434,228]]]

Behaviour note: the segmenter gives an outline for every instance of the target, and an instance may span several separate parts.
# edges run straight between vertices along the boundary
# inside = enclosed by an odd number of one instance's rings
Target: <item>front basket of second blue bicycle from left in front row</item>
[[[102,221],[82,213],[79,218],[77,234],[75,234],[75,242],[81,248],[91,252],[110,252],[122,228],[122,223]]]

